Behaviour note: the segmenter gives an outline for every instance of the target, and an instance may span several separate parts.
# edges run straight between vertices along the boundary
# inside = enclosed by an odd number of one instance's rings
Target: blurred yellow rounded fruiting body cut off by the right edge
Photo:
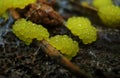
[[[101,7],[98,15],[102,22],[110,27],[118,27],[120,25],[120,8],[118,6]],[[119,26],[120,27],[120,26]]]

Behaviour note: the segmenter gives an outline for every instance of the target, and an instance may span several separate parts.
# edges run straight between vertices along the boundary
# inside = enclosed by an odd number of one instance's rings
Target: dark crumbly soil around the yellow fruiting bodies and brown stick
[[[74,6],[69,0],[57,0],[56,5],[65,19],[83,15],[71,9]],[[34,42],[27,46],[19,40],[11,31],[13,21],[11,16],[8,20],[0,18],[0,78],[76,78]],[[49,32],[51,35],[67,34],[79,42],[80,51],[71,61],[94,78],[120,78],[120,29],[93,24],[98,29],[98,38],[89,45],[82,44],[63,26],[54,27]]]

